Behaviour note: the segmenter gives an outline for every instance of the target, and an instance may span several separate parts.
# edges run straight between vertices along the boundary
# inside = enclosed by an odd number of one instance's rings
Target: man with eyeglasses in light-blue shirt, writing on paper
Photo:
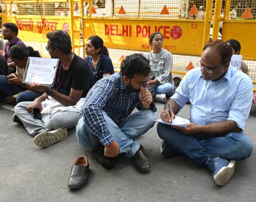
[[[232,49],[221,40],[207,42],[199,67],[190,70],[170,98],[162,120],[172,121],[187,101],[191,102],[191,123],[187,128],[158,123],[164,140],[160,153],[165,158],[189,157],[197,166],[212,172],[217,185],[224,186],[234,174],[236,160],[251,156],[253,142],[244,134],[251,110],[251,79],[229,66]],[[171,116],[171,117],[170,117]]]

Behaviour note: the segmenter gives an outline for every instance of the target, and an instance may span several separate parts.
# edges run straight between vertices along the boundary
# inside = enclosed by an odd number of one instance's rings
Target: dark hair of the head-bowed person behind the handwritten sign
[[[24,58],[28,58],[29,56],[41,57],[39,52],[34,50],[30,46],[24,47],[20,45],[15,45],[12,46],[9,51],[9,57],[15,58],[17,60],[24,60]]]

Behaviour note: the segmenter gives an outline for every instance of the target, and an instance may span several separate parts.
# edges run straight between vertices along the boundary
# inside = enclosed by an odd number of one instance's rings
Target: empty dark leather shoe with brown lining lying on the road
[[[86,184],[90,174],[89,162],[86,156],[79,156],[72,168],[67,186],[70,189],[79,189]]]

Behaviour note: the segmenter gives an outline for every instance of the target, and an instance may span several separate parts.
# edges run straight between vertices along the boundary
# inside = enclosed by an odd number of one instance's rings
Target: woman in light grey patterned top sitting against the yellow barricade
[[[155,101],[166,102],[166,97],[174,94],[174,82],[172,79],[172,54],[163,49],[164,38],[160,32],[154,32],[150,36],[152,51],[148,54],[152,71],[152,79],[148,82],[148,90],[156,95]]]

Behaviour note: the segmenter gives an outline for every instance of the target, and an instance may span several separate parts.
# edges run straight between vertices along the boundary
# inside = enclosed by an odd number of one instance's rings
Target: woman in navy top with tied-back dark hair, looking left
[[[88,62],[95,83],[106,75],[114,74],[114,67],[108,49],[103,46],[103,40],[99,36],[90,36],[86,43],[86,62]]]

